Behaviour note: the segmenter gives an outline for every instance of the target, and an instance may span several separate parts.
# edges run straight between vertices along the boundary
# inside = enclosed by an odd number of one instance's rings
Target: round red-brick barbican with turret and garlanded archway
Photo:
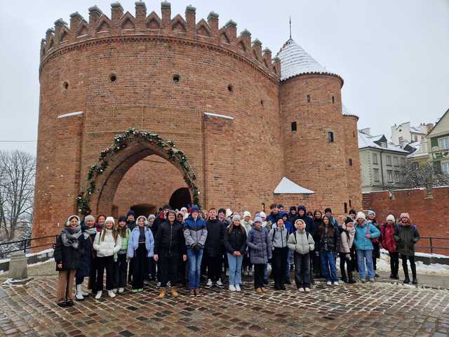
[[[41,42],[34,237],[86,209],[361,208],[358,117],[342,111],[340,76],[293,39],[272,59],[213,12],[111,7],[57,20]]]

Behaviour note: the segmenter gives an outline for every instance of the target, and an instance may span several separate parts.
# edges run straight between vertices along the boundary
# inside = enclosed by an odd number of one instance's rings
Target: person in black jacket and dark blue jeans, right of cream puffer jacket
[[[319,228],[321,271],[326,278],[328,286],[338,285],[335,254],[340,240],[340,232],[333,225],[329,216],[323,216],[323,225]]]

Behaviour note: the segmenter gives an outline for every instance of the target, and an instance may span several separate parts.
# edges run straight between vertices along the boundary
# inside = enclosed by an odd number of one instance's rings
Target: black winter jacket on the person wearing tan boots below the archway
[[[154,240],[154,253],[168,253],[170,256],[186,253],[184,233],[180,223],[175,220],[173,225],[168,221],[159,225]]]

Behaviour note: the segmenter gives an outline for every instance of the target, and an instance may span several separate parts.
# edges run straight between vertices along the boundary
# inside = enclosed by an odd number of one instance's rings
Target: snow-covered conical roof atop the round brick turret
[[[304,51],[292,38],[287,40],[276,56],[281,61],[281,81],[299,74],[333,74]]]

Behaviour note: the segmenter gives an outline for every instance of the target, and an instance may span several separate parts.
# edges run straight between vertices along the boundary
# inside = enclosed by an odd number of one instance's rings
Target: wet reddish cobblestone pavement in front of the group
[[[249,279],[248,279],[249,281]],[[311,293],[201,289],[196,298],[143,293],[55,305],[55,277],[0,286],[0,336],[449,336],[449,291],[376,282],[316,284]]]

